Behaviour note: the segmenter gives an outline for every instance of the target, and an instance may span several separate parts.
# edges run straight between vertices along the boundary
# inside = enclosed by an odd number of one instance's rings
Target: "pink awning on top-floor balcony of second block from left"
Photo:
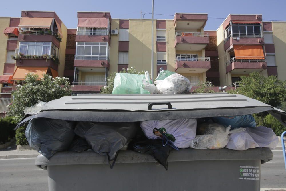
[[[107,28],[108,18],[78,18],[78,27]]]

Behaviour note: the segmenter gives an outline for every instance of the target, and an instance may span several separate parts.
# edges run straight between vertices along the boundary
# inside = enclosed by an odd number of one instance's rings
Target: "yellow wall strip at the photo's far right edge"
[[[280,80],[286,80],[286,22],[272,22],[272,31],[278,78]]]

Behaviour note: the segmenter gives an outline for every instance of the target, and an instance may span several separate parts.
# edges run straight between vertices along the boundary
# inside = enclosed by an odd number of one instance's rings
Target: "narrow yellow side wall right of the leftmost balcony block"
[[[67,27],[61,23],[61,34],[62,40],[59,46],[59,67],[57,69],[59,76],[63,76],[63,71],[65,70],[65,49],[67,46]]]

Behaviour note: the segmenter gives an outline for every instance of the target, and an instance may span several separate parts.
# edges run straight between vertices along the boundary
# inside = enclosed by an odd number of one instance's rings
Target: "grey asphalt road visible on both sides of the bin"
[[[273,151],[273,160],[261,165],[261,188],[286,187],[286,172],[281,150],[281,147],[277,147]],[[0,191],[47,191],[47,171],[35,167],[34,163],[35,158],[1,159]]]

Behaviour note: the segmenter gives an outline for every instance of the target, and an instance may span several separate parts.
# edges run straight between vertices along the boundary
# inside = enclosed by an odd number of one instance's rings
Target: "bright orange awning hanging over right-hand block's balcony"
[[[236,59],[265,59],[262,45],[233,45]]]

